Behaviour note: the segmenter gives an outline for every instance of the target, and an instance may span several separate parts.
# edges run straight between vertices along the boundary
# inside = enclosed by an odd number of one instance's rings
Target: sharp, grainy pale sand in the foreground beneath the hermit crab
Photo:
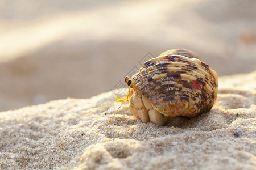
[[[108,134],[112,108],[88,113],[100,107],[98,100],[114,100],[119,90],[1,112],[0,167],[254,169],[255,84],[256,72],[222,77],[210,112],[169,118],[165,126],[144,124],[126,104]]]

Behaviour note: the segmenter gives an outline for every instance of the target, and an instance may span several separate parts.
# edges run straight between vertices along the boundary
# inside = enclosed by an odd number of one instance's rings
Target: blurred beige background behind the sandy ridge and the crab
[[[256,70],[256,1],[0,0],[0,111],[122,87],[175,48],[219,76]]]

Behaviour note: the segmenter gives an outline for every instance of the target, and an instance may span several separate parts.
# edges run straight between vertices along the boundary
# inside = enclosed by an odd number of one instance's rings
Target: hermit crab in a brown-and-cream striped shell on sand
[[[163,125],[167,117],[195,117],[208,112],[217,97],[216,72],[186,49],[168,50],[146,61],[125,82],[129,92],[115,102],[129,101],[130,112],[145,123]]]

